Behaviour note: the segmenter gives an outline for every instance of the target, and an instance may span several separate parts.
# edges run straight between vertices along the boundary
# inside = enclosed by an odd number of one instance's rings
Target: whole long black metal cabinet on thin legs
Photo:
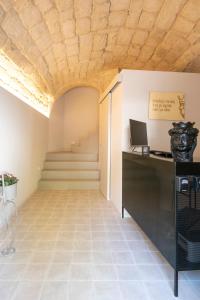
[[[200,162],[123,152],[122,207],[174,268],[178,296],[178,273],[200,270]]]

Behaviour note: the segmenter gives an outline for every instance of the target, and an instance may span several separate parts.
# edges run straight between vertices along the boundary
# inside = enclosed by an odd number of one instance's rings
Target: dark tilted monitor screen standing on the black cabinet
[[[147,126],[146,123],[136,120],[130,122],[130,143],[132,146],[147,146]]]

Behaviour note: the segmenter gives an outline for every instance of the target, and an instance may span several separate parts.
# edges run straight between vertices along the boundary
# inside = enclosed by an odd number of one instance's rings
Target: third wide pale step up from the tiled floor
[[[98,169],[98,162],[92,161],[45,161],[44,169]]]

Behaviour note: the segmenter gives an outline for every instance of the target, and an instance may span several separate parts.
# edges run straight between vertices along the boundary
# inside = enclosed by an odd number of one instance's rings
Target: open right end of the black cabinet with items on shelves
[[[179,163],[177,171],[175,295],[178,271],[200,269],[200,164]]]

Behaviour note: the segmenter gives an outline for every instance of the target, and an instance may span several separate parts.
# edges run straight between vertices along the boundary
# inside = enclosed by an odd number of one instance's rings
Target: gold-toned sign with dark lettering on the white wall
[[[149,119],[181,121],[185,118],[185,99],[180,92],[150,92]]]

